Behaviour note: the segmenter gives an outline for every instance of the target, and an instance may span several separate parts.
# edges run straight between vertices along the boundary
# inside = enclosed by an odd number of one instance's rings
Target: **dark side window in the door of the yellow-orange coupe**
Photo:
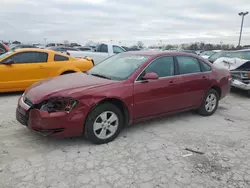
[[[43,53],[43,52],[21,52],[21,53],[12,55],[9,58],[13,59],[14,62],[17,64],[18,63],[45,63],[47,62],[48,54]]]

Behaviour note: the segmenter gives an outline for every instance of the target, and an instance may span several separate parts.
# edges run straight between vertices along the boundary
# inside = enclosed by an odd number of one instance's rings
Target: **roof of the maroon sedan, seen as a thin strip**
[[[152,56],[152,57],[157,57],[157,56],[164,56],[164,55],[185,55],[185,56],[193,56],[193,57],[199,57],[196,54],[191,54],[191,53],[186,53],[186,52],[177,52],[177,51],[172,51],[172,52],[166,52],[166,51],[129,51],[129,52],[124,52],[126,54],[131,54],[131,55],[145,55],[145,56]]]

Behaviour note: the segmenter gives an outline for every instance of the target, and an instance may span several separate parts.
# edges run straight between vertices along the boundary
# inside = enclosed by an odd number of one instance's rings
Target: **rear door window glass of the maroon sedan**
[[[199,61],[196,58],[188,56],[177,56],[176,58],[180,74],[201,72]]]

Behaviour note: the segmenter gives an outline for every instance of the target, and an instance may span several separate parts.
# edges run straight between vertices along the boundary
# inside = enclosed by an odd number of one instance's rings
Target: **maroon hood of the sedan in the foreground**
[[[82,91],[109,85],[113,80],[103,79],[85,73],[73,73],[50,78],[32,85],[25,91],[25,97],[33,103],[39,103],[50,96],[73,95],[74,91]]]

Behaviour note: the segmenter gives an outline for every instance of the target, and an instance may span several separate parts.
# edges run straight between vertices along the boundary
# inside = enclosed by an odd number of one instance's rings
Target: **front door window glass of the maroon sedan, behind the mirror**
[[[154,60],[145,70],[145,73],[154,72],[159,77],[167,77],[174,75],[174,59],[173,57],[160,57]]]

